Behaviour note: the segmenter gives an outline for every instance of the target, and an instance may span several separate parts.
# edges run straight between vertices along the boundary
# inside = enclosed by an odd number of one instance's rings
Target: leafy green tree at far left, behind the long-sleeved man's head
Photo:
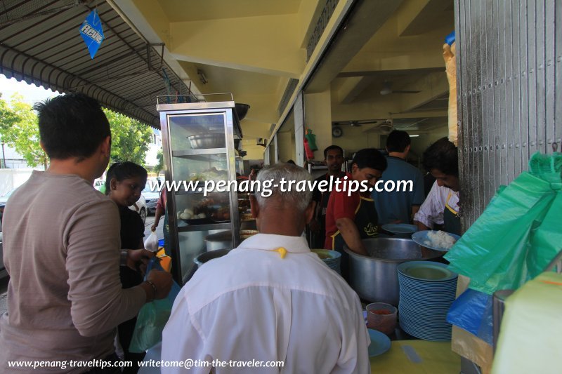
[[[11,108],[0,99],[2,141],[21,154],[29,166],[34,168],[41,164],[47,168],[47,155],[39,145],[37,115],[19,93],[13,94],[11,99]]]

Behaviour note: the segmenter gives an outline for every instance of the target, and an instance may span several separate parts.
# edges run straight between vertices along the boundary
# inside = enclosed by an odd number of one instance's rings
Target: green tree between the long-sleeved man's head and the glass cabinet
[[[152,139],[150,127],[109,109],[103,108],[103,112],[111,126],[111,162],[131,161],[144,166]]]

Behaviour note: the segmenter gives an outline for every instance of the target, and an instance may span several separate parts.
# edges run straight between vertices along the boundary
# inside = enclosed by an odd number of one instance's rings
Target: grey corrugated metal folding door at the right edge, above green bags
[[[455,0],[464,229],[537,151],[561,150],[562,1]]]

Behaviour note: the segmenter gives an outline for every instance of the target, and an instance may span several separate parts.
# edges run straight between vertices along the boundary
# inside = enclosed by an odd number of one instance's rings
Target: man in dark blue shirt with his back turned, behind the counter
[[[410,143],[410,135],[405,131],[395,130],[388,134],[386,140],[388,167],[372,192],[380,225],[412,222],[412,217],[424,202],[424,177],[418,168],[406,161],[410,152]],[[398,181],[405,183],[399,185]],[[393,185],[394,190],[388,191],[387,189]]]

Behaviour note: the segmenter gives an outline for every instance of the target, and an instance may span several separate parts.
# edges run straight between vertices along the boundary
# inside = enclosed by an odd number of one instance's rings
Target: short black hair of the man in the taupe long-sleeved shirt
[[[81,93],[38,102],[34,109],[39,113],[41,142],[51,159],[86,159],[111,135],[98,102]]]

